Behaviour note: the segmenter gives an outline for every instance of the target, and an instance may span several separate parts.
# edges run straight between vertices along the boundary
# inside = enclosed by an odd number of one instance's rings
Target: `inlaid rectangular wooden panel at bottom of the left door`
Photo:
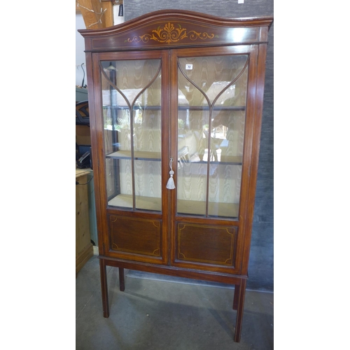
[[[162,222],[160,220],[111,215],[109,229],[113,251],[156,257],[161,255]]]

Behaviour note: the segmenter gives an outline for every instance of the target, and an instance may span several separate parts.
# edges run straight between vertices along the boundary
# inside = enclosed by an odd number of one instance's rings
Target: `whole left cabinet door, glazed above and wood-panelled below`
[[[94,76],[101,100],[99,181],[107,218],[106,255],[167,261],[167,191],[162,154],[168,153],[167,55],[163,52],[97,54]]]

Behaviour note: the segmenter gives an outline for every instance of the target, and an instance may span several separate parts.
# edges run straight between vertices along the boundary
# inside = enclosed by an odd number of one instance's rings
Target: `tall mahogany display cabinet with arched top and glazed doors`
[[[160,10],[85,38],[106,266],[235,285],[239,342],[272,18]],[[117,311],[116,311],[117,312]]]

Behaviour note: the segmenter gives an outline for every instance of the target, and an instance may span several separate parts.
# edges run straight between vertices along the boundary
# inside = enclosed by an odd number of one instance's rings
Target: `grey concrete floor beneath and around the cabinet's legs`
[[[234,343],[231,286],[159,277],[126,270],[120,292],[118,269],[108,267],[110,316],[104,318],[94,255],[76,277],[76,349],[274,348],[273,293],[246,291],[241,342]]]

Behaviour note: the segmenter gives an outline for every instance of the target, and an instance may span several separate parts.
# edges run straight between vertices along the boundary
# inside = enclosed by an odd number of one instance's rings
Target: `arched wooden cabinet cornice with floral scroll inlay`
[[[159,10],[103,29],[79,29],[85,51],[150,50],[262,43],[272,18],[216,18],[186,10]],[[89,40],[89,38],[91,38]]]

